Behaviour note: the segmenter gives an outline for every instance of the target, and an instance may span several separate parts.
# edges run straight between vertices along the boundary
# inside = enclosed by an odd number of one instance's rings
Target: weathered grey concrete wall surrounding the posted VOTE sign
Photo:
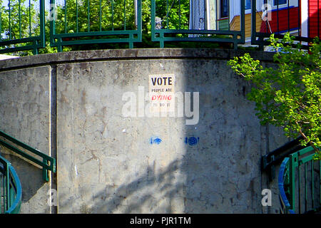
[[[250,84],[226,65],[243,53],[131,49],[0,61],[0,129],[57,159],[44,182],[39,167],[0,148],[21,178],[22,212],[278,212],[277,183],[260,172],[260,157],[287,139],[260,126],[245,98]],[[272,61],[271,53],[252,55]],[[139,115],[156,74],[174,74],[175,92],[199,93],[191,98],[194,108],[199,101],[197,124],[187,125],[178,107],[173,116]],[[136,117],[123,115],[128,92]],[[265,188],[272,207],[261,205]],[[47,204],[50,189],[58,207]]]

